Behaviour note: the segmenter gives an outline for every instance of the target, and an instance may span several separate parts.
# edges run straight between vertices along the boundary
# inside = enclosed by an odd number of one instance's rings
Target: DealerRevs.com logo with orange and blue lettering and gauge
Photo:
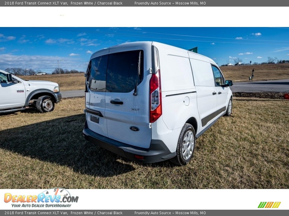
[[[71,196],[64,188],[51,188],[38,195],[4,194],[4,202],[12,202],[12,207],[71,207],[78,201],[78,196]]]

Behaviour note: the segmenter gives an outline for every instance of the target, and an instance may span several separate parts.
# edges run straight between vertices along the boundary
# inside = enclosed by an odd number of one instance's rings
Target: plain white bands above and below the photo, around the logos
[[[286,27],[288,8],[2,7],[1,19],[2,27]],[[278,209],[289,209],[288,189],[69,191],[79,196],[70,209],[257,209],[261,201],[281,202]],[[5,193],[27,196],[41,192],[2,189],[0,208],[12,208],[11,202],[3,202]]]

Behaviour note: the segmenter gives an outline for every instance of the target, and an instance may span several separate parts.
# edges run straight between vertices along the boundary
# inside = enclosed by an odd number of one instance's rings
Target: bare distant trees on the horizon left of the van
[[[21,67],[8,67],[5,69],[6,72],[12,73],[14,75],[18,76],[31,76],[34,75],[35,73],[43,72],[42,70],[33,70],[33,69],[24,69]],[[78,70],[67,70],[67,69],[62,69],[60,68],[61,73],[83,73],[82,71]],[[59,68],[55,68],[52,71],[52,74],[59,74]]]

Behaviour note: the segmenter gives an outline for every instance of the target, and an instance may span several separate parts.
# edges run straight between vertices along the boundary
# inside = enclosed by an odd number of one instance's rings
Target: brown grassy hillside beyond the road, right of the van
[[[289,64],[259,64],[220,67],[226,79],[248,81],[254,68],[254,80],[289,79]]]

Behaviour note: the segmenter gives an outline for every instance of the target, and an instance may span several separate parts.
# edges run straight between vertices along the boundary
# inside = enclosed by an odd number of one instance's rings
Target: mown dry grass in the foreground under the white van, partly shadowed
[[[80,104],[80,105],[79,105]],[[185,167],[138,164],[84,140],[84,98],[0,116],[0,188],[288,188],[289,101],[234,98]]]

